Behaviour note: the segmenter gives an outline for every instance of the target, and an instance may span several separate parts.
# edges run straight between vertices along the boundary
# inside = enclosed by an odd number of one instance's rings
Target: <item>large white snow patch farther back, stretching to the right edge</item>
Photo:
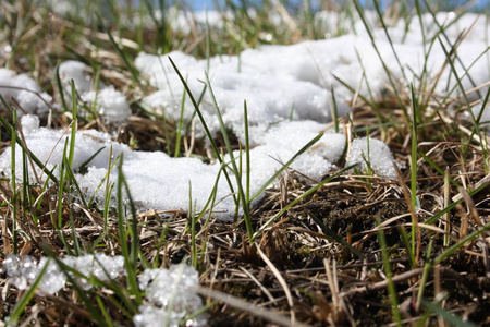
[[[489,81],[488,53],[477,60],[480,55],[488,51],[485,39],[490,34],[490,27],[485,17],[466,14],[453,23],[453,13],[439,13],[439,25],[450,25],[445,37],[454,43],[458,35],[468,32],[468,35],[457,48],[458,60],[454,65],[462,78],[465,89],[482,85]],[[450,52],[452,45],[441,36],[442,44],[436,43],[425,60],[421,26],[418,20],[413,20],[405,33],[405,23],[399,23],[389,28],[393,49],[383,29],[373,29],[376,46],[380,57],[388,64],[392,78],[408,87],[414,83],[418,87],[424,70],[427,70],[429,80],[434,77],[445,65],[445,51]],[[438,25],[428,14],[422,16],[424,31],[431,37],[438,31]],[[469,31],[469,26],[475,26]],[[149,78],[151,85],[158,90],[145,98],[145,102],[157,112],[164,111],[174,120],[181,114],[181,102],[184,87],[174,68],[171,58],[196,99],[199,98],[206,81],[206,70],[209,64],[209,80],[213,88],[219,108],[222,111],[225,124],[238,135],[243,130],[243,102],[248,104],[248,121],[253,126],[267,126],[269,123],[287,119],[315,120],[327,122],[331,120],[332,90],[335,94],[340,114],[350,112],[346,101],[353,95],[340,81],[351,86],[359,87],[359,94],[367,98],[379,97],[390,85],[388,74],[382,61],[371,45],[363,26],[357,26],[358,35],[347,34],[341,37],[304,41],[293,46],[262,46],[259,49],[244,50],[240,56],[217,56],[207,60],[196,60],[191,56],[174,51],[163,56],[139,53],[135,65]],[[396,57],[401,65],[399,65]],[[464,68],[469,75],[464,74]],[[406,78],[405,78],[406,76]],[[436,85],[436,93],[457,95],[456,78],[452,75],[449,65],[442,70]],[[408,89],[406,89],[408,92]],[[485,90],[482,90],[485,92]],[[186,98],[186,112],[184,118],[193,114],[193,106],[188,96]],[[218,131],[216,119],[212,119],[213,107],[209,93],[205,94],[200,109],[212,131]],[[291,114],[292,113],[292,114]]]

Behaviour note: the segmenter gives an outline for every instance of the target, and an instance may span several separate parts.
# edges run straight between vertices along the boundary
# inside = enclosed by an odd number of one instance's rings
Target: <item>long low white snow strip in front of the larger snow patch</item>
[[[25,117],[23,122],[32,119],[32,117]],[[47,169],[54,169],[54,174],[59,175],[64,143],[70,137],[70,133],[46,128],[36,130],[30,125],[28,128],[32,132],[25,133],[27,147],[41,162],[45,162]],[[257,138],[261,144],[250,150],[250,193],[256,193],[282,167],[282,164],[290,160],[323,129],[323,124],[314,121],[282,122],[273,125],[260,138]],[[320,180],[333,168],[332,162],[340,159],[344,146],[344,135],[326,133],[308,155],[299,157],[291,168],[311,179]],[[82,165],[100,148],[103,149],[91,159],[88,171],[79,171]],[[113,162],[114,158],[120,155],[124,156],[123,172],[139,210],[187,209],[189,183],[192,198],[196,202],[196,209],[200,210],[212,193],[220,170],[218,162],[206,165],[197,158],[172,158],[161,152],[133,152],[127,145],[111,142],[109,134],[94,130],[77,132],[72,169],[76,173],[75,177],[82,190],[90,197],[96,197],[99,204],[103,203],[106,194],[105,180],[108,175],[110,158]],[[235,157],[238,157],[237,153]],[[229,160],[228,157],[226,160]],[[11,152],[4,152],[0,156],[0,168],[5,175],[10,174],[10,162]],[[16,148],[15,165],[17,179],[22,179],[22,149],[20,147]],[[46,178],[40,168],[36,168],[36,173]],[[32,171],[29,174],[34,177]],[[112,169],[109,175],[110,182],[117,181],[117,169]],[[233,187],[236,190],[235,179],[232,178],[232,181]],[[233,218],[234,203],[230,195],[230,186],[221,174],[218,182],[217,201],[222,201],[215,207],[215,210],[221,213],[222,219]],[[112,205],[115,206],[114,201]]]

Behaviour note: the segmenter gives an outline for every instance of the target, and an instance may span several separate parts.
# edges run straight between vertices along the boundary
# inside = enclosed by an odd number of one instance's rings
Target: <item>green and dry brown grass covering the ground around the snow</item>
[[[345,119],[336,111],[343,99],[332,92],[333,129],[347,140],[353,135],[383,140],[405,167],[397,180],[379,178],[372,171],[352,173],[353,167],[346,167],[331,171],[322,181],[306,182],[291,164],[314,147],[320,134],[292,158],[285,158],[289,160],[283,167],[252,194],[247,102],[245,144],[240,144],[222,121],[221,136],[213,137],[199,109],[204,95],[209,94],[221,120],[212,83],[204,81],[203,94],[194,98],[179,71],[184,68],[172,61],[186,87],[180,119],[172,121],[164,110],[150,112],[140,99],[154,89],[135,69],[135,56],[142,50],[182,50],[208,59],[209,71],[212,56],[237,55],[264,44],[296,44],[326,34],[336,36],[364,26],[383,61],[368,12],[359,1],[324,1],[322,5],[341,17],[338,26],[326,31],[315,21],[313,1],[301,7],[242,1],[255,7],[255,16],[228,1],[220,9],[222,27],[212,26],[208,17],[206,23],[191,19],[189,33],[185,34],[172,24],[174,14],[164,10],[161,16],[157,14],[156,9],[166,9],[169,3],[139,2],[138,7],[122,8],[117,1],[103,5],[87,0],[76,2],[76,12],[64,15],[50,14],[44,1],[8,1],[0,8],[0,25],[4,26],[0,45],[12,49],[0,57],[1,66],[33,76],[62,108],[62,112],[42,118],[42,125],[49,122],[70,135],[64,143],[61,174],[54,175],[26,146],[15,110],[7,102],[10,99],[0,98],[0,152],[17,144],[21,152],[12,150],[12,157],[21,159],[24,168],[22,179],[12,179],[21,175],[15,168],[0,175],[0,258],[11,253],[48,256],[60,264],[69,279],[62,291],[47,295],[36,290],[39,279],[26,291],[19,291],[2,275],[3,320],[11,325],[58,326],[66,322],[72,326],[132,326],[132,317],[145,299],[137,286],[143,269],[186,262],[199,272],[200,287],[196,291],[204,300],[211,326],[229,326],[231,322],[237,326],[490,326],[489,140],[481,114],[468,112],[470,99],[462,83],[466,72],[456,69],[460,44],[448,47],[446,26],[437,26],[433,35],[422,32],[426,59],[434,46],[442,45],[445,62],[441,65],[456,81],[456,89],[441,95],[436,86],[448,81],[440,76],[431,80],[426,65],[416,76],[416,86],[408,90],[403,86],[414,81],[406,81],[408,68],[401,64],[390,37],[393,17],[415,24],[422,22],[426,12],[434,15],[437,7],[415,0],[383,11],[379,3],[370,4],[404,80],[395,80],[390,65],[393,63],[383,62],[390,90],[382,97],[372,95],[367,78],[360,82],[369,89],[365,97],[357,94],[360,85],[346,85],[333,76],[356,94],[352,113]],[[186,9],[185,3],[179,5]],[[226,11],[235,19],[230,19]],[[464,11],[457,8],[457,16],[463,16]],[[271,23],[272,14],[280,17],[279,26]],[[362,25],[354,24],[356,15],[360,15]],[[483,19],[488,20],[488,12]],[[480,60],[486,56],[482,53]],[[362,60],[362,53],[358,57]],[[87,108],[73,86],[70,92],[63,89],[58,66],[66,59],[83,60],[90,65],[97,84],[114,85],[131,100],[133,114],[115,134],[118,141],[136,149],[219,161],[221,169],[205,209],[196,211],[196,198],[191,193],[195,185],[189,184],[186,211],[174,208],[164,215],[137,213],[122,173],[123,157],[108,162],[109,170],[119,171],[119,178],[109,180],[108,173],[101,181],[103,204],[97,206],[94,199],[84,197],[76,182],[77,171],[72,167],[75,132],[86,128],[110,131],[111,126],[95,112],[90,116],[94,119],[83,117]],[[455,92],[463,96],[456,97]],[[482,106],[488,106],[490,90],[481,88],[479,93]],[[193,108],[185,107],[185,98],[191,99]],[[207,141],[195,138],[192,125],[184,122],[184,110],[193,110],[203,122]],[[292,105],[291,117],[296,110],[299,108]],[[233,154],[236,149],[242,149],[240,155]],[[346,155],[339,167],[347,160]],[[365,155],[369,164],[370,155]],[[84,162],[78,172],[86,170],[94,158]],[[44,169],[42,175],[49,182],[29,177],[25,169],[29,166]],[[282,177],[280,186],[274,186]],[[212,214],[220,201],[220,179],[228,180],[234,196],[234,222],[222,223]],[[262,192],[266,196],[257,202]],[[115,205],[111,193],[117,194]],[[122,255],[126,275],[101,281],[82,276],[60,261],[65,255],[95,252]],[[84,291],[77,278],[86,279],[94,288]],[[189,313],[188,318],[193,314],[197,313]]]

